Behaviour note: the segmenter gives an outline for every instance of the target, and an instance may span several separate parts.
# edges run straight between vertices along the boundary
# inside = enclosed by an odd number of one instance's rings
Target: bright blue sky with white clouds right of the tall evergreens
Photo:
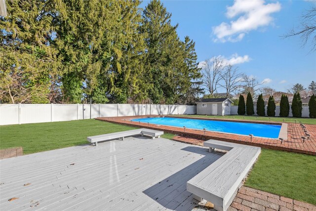
[[[145,7],[149,0],[141,4]],[[300,37],[282,36],[300,25],[316,1],[162,0],[179,24],[178,35],[196,42],[198,61],[222,56],[264,86],[286,91],[316,81],[316,52]],[[221,91],[220,89],[218,90]]]

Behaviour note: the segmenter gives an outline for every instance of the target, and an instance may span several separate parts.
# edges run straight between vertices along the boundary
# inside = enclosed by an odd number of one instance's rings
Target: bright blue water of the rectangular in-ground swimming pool
[[[197,120],[185,118],[172,117],[154,117],[133,119],[133,122],[150,123],[164,126],[187,127],[193,129],[203,129],[228,132],[240,135],[253,134],[254,136],[277,138],[281,129],[280,125],[267,125],[257,123],[241,123],[241,122],[227,122],[227,121],[213,121],[213,120]]]

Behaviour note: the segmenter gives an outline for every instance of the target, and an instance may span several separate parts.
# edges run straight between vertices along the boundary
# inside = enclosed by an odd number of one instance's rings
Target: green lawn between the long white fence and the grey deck
[[[87,136],[135,129],[98,120],[0,126],[0,149],[23,147],[23,154],[89,143]],[[172,139],[173,134],[162,137]]]

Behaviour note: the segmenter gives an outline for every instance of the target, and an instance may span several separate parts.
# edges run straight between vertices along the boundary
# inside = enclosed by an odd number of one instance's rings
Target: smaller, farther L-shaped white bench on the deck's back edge
[[[155,139],[155,137],[159,138],[160,135],[163,135],[163,131],[140,128],[140,129],[113,132],[113,133],[102,134],[102,135],[89,136],[87,137],[87,141],[97,146],[98,142],[101,142],[101,141],[108,141],[108,140],[113,140],[113,139],[118,139],[118,138],[124,140],[124,137],[133,136],[133,135],[142,135],[142,136],[148,135],[148,136],[151,136],[153,139]]]

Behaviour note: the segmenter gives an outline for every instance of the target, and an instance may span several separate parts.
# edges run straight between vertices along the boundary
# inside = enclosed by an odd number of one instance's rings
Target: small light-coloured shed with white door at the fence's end
[[[233,101],[225,98],[200,99],[197,103],[197,114],[230,115]]]

